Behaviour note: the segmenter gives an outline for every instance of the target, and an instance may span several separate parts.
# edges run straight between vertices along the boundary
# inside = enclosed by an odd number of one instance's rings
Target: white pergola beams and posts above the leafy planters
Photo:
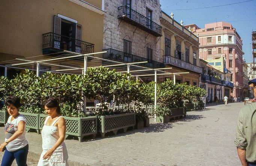
[[[131,75],[131,77],[136,77],[136,79],[138,80],[139,77],[143,77],[143,76],[154,76],[154,82],[155,82],[155,87],[154,87],[154,109],[156,109],[157,106],[157,75],[173,75],[173,83],[175,84],[175,77],[176,75],[180,75],[180,74],[185,74],[185,73],[189,73],[189,72],[180,72],[180,73],[171,73],[171,72],[167,72],[167,71],[163,71],[166,69],[172,69],[172,67],[167,67],[167,68],[159,68],[159,69],[152,69],[149,67],[144,67],[144,66],[138,66],[136,64],[142,64],[142,63],[148,63],[148,61],[143,61],[143,62],[133,62],[133,63],[123,63],[123,62],[119,62],[119,61],[113,61],[113,60],[108,60],[108,59],[104,59],[104,58],[99,58],[99,57],[94,57],[92,55],[95,54],[102,54],[102,53],[106,53],[107,51],[103,51],[103,52],[95,52],[95,53],[90,53],[90,54],[79,54],[76,52],[71,52],[71,51],[64,51],[66,53],[69,54],[74,54],[72,56],[66,56],[66,57],[55,57],[55,58],[50,58],[50,59],[43,59],[43,60],[25,60],[25,59],[19,59],[17,58],[16,60],[19,61],[26,61],[24,63],[15,63],[15,64],[8,64],[8,65],[0,65],[2,67],[5,67],[5,77],[7,76],[7,68],[14,68],[14,69],[27,69],[26,67],[14,67],[14,66],[21,66],[21,65],[28,65],[28,64],[36,64],[36,70],[35,69],[29,69],[29,70],[34,70],[36,71],[36,76],[39,76],[39,72],[40,71],[44,71],[44,70],[40,70],[40,64],[46,64],[49,66],[57,66],[57,67],[64,67],[64,69],[60,69],[60,70],[51,70],[50,72],[54,72],[54,73],[63,73],[60,71],[71,71],[71,70],[82,70],[83,75],[86,74],[87,69],[89,68],[87,66],[88,63],[88,57],[92,58],[92,59],[97,59],[97,60],[101,60],[101,61],[107,61],[107,62],[111,62],[111,63],[117,63],[117,64],[111,64],[111,65],[101,65],[102,67],[117,67],[117,66],[127,66],[127,69],[124,71],[119,71],[120,73],[134,73]],[[42,55],[40,55],[42,56]],[[67,65],[60,65],[60,64],[54,64],[54,63],[49,63],[50,61],[56,61],[56,60],[67,60],[67,59],[71,59],[71,58],[78,58],[78,57],[83,57],[83,68],[81,67],[73,67],[73,66],[67,66]],[[48,62],[48,63],[45,63]],[[93,67],[100,67],[100,66],[93,66]],[[131,67],[135,67],[135,68],[140,68],[139,70],[130,70]],[[68,68],[68,69],[66,69]],[[154,74],[141,74],[141,72],[143,71],[153,71]],[[44,71],[46,72],[46,71]],[[136,72],[139,72],[136,74]],[[160,73],[157,73],[160,72]],[[66,73],[66,74],[74,74],[74,73]],[[86,110],[86,97],[84,97],[84,110]],[[155,114],[155,121],[156,121],[156,114]]]

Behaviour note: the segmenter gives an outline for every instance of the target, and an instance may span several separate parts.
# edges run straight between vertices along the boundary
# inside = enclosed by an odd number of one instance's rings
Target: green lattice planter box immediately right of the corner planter
[[[102,138],[105,133],[113,132],[117,134],[117,130],[123,129],[125,132],[128,127],[135,126],[135,113],[105,115],[98,117],[98,132],[101,133]]]

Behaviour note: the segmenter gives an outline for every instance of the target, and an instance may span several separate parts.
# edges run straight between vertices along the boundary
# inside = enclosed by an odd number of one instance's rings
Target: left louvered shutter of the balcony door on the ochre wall
[[[54,16],[54,48],[60,48],[61,18]]]

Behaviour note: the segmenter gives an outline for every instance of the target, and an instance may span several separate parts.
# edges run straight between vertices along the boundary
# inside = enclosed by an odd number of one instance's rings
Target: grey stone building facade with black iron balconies
[[[136,61],[134,57],[145,61],[142,57],[162,65],[157,56],[161,37],[159,0],[105,0],[104,11],[103,50],[108,53],[103,58],[127,63]]]

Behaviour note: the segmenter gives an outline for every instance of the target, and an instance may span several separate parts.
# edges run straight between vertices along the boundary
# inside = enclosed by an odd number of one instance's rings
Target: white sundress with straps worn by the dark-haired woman
[[[59,137],[59,130],[57,126],[53,126],[60,117],[58,117],[51,126],[46,123],[50,116],[46,117],[42,129],[42,149],[43,152],[40,156],[38,166],[68,166],[68,151],[64,142],[53,152],[50,159],[43,159],[44,154],[53,147]]]

